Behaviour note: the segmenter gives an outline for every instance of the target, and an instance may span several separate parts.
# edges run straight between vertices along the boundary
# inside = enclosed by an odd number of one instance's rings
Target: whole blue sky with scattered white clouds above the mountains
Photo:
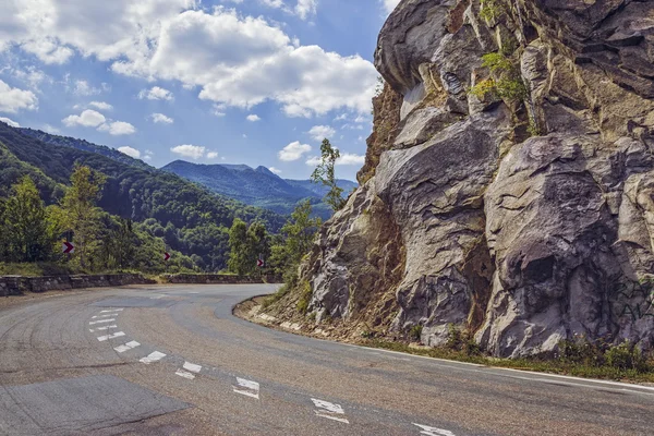
[[[2,0],[0,119],[174,159],[354,180],[397,0]],[[7,4],[5,4],[7,3]]]

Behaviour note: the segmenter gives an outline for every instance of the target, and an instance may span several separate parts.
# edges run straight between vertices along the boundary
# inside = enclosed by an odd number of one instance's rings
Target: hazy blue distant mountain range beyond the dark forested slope
[[[323,203],[327,189],[310,180],[282,179],[266,167],[251,168],[246,165],[199,165],[175,160],[161,168],[208,190],[245,204],[263,207],[281,215],[289,215],[296,204],[311,199],[314,214],[326,219],[331,216],[328,205]],[[338,180],[347,195],[358,184]]]

